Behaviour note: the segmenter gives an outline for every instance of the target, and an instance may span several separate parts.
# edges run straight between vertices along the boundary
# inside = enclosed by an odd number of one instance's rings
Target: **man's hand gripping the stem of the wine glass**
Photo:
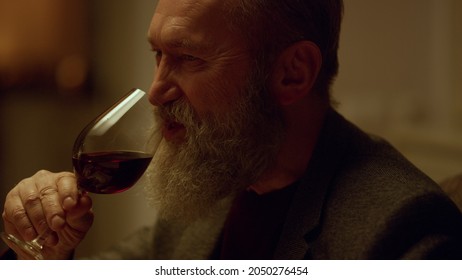
[[[50,228],[42,250],[45,259],[68,259],[93,222],[92,202],[79,193],[73,173],[39,171],[6,196],[5,231],[30,241]],[[28,258],[21,251],[19,258]]]

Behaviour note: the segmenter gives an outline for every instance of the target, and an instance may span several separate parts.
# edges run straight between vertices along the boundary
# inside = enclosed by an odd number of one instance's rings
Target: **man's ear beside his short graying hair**
[[[296,42],[278,57],[271,76],[271,91],[281,105],[290,105],[308,95],[321,69],[322,55],[310,41]]]

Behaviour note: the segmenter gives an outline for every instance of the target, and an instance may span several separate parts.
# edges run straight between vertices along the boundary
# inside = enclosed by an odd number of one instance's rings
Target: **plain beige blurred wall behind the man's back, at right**
[[[462,6],[347,0],[335,96],[439,181],[462,172]]]

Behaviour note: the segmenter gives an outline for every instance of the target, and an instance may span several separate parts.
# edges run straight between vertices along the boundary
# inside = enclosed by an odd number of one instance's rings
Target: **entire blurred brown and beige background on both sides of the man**
[[[130,88],[149,89],[146,32],[155,3],[0,0],[1,205],[40,169],[72,170],[81,128]],[[435,181],[462,172],[460,26],[459,0],[345,0],[339,111]],[[95,223],[78,257],[155,216],[142,182],[93,199]]]

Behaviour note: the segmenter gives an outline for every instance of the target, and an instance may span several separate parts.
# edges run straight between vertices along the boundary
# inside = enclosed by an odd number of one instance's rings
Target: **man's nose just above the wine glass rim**
[[[168,65],[161,62],[154,72],[154,79],[149,90],[151,104],[162,106],[179,99],[182,92]]]

